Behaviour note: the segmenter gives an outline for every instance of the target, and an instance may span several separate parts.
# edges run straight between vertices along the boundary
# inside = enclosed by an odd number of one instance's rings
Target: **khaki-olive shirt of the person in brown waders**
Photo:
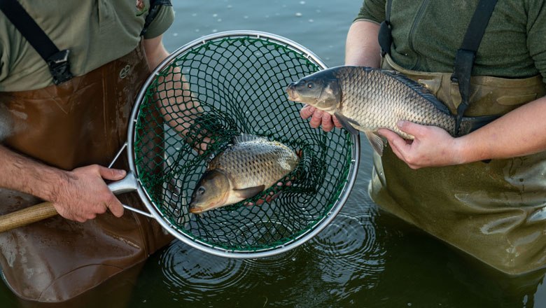
[[[59,50],[70,50],[73,76],[134,50],[150,7],[149,0],[18,1]],[[172,7],[162,6],[144,38],[160,36],[173,20]],[[45,61],[0,11],[0,91],[35,90],[52,84]]]

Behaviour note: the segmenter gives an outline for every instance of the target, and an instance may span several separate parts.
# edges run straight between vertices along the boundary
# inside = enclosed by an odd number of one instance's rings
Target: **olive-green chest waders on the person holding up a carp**
[[[384,55],[381,67],[400,71],[423,84],[453,114],[463,116],[463,111],[465,116],[502,116],[546,94],[540,76],[470,77],[472,63],[468,62],[462,64],[466,76],[460,70],[453,74],[436,73],[398,66],[388,54],[391,38],[384,37],[390,34],[389,15],[387,10],[386,22],[379,32]],[[486,26],[486,22],[471,22],[477,24]],[[480,32],[483,33],[469,28],[467,35]],[[461,51],[456,57],[458,61],[463,58],[473,61],[472,54],[460,54]],[[460,88],[461,80],[468,80],[467,90]],[[465,99],[468,106],[461,107]],[[412,170],[388,148],[382,157],[374,154],[369,190],[382,209],[501,272],[523,274],[546,265],[544,174],[545,152],[489,163]]]

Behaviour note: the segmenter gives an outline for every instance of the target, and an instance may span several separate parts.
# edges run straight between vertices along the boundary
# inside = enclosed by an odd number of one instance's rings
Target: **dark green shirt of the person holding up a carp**
[[[451,72],[478,0],[393,0],[391,57],[405,69]],[[477,50],[472,75],[546,82],[546,3],[498,1]],[[364,0],[356,20],[385,20],[386,0]]]

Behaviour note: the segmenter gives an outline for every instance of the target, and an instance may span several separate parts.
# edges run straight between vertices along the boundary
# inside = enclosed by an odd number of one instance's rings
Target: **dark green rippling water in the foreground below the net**
[[[543,272],[505,276],[377,209],[362,183],[369,152],[345,207],[306,244],[232,260],[175,243],[141,275],[161,283],[141,284],[130,307],[541,307]]]

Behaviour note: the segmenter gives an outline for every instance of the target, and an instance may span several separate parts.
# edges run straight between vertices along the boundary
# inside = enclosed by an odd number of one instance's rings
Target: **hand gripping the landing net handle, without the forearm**
[[[52,200],[60,216],[83,223],[97,214],[110,210],[116,217],[123,215],[123,205],[104,180],[118,181],[125,170],[109,169],[99,165],[80,167],[68,172]]]

